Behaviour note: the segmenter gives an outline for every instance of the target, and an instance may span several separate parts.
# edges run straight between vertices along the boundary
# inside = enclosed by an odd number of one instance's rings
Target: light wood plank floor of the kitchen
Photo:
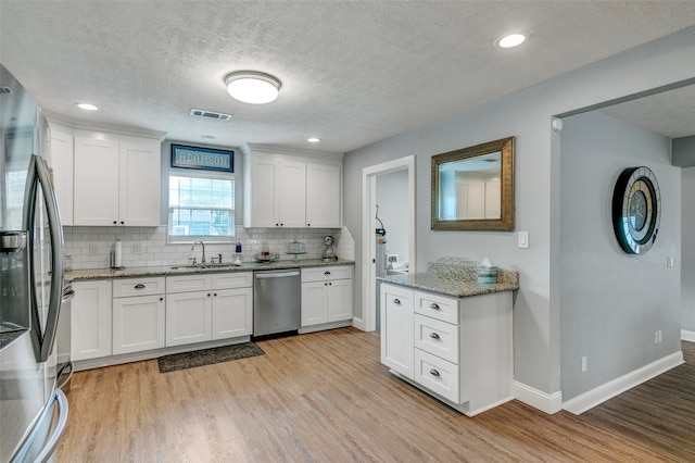
[[[160,374],[155,360],[76,373],[58,461],[688,461],[517,401],[466,417],[390,375],[376,333],[258,346],[265,355],[174,373]]]

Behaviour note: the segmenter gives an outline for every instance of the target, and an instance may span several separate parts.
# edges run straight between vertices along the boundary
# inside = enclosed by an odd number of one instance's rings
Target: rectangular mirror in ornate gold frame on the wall
[[[514,230],[514,137],[432,157],[432,229]]]

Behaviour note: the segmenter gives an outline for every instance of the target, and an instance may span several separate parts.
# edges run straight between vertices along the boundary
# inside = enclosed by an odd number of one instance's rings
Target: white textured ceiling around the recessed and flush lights
[[[348,152],[692,25],[692,1],[0,0],[0,61],[70,121]],[[529,41],[494,48],[510,30]],[[278,100],[228,97],[240,70]]]

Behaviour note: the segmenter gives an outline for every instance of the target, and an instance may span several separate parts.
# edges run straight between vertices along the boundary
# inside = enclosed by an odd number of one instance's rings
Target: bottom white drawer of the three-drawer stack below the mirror
[[[454,403],[460,403],[458,365],[415,349],[415,380]]]

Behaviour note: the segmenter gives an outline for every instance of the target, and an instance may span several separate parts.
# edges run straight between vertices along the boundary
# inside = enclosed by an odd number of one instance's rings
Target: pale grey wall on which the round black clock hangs
[[[560,352],[563,400],[681,350],[681,168],[671,139],[598,112],[567,117],[560,133]],[[661,221],[646,254],[627,254],[611,200],[626,167],[658,182]],[[667,256],[675,266],[667,267]],[[661,330],[662,342],[654,342]],[[582,372],[582,356],[587,370]]]

